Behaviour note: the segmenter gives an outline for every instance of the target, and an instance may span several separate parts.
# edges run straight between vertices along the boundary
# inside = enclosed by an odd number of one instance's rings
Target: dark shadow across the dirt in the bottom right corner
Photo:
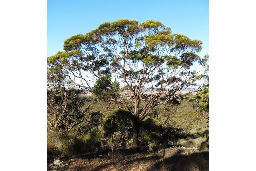
[[[149,170],[160,170],[161,162],[158,161],[151,165]],[[189,155],[176,154],[164,159],[166,170],[172,171],[208,171],[209,170],[209,152],[192,153]]]

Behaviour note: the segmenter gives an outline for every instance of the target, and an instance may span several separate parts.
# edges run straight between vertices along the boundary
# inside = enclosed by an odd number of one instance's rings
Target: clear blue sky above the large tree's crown
[[[63,51],[63,42],[70,36],[122,18],[160,21],[172,33],[203,41],[199,55],[209,54],[208,0],[48,0],[47,56]]]

